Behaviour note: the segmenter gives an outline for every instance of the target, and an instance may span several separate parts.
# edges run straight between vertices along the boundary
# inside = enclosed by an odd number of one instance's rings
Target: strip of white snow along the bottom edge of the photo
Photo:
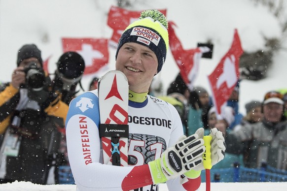
[[[211,191],[285,191],[287,183],[212,183]],[[75,191],[75,185],[35,185],[29,182],[14,182],[0,185],[1,191]],[[198,191],[205,191],[202,183]],[[165,184],[160,191],[168,191]]]

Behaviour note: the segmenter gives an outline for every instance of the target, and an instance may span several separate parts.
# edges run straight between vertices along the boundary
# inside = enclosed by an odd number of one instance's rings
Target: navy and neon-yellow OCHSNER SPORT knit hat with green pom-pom
[[[130,24],[121,35],[116,50],[123,44],[135,42],[152,50],[158,61],[157,72],[162,68],[166,60],[166,53],[169,46],[168,22],[165,16],[158,10],[145,10],[141,13],[139,20]]]

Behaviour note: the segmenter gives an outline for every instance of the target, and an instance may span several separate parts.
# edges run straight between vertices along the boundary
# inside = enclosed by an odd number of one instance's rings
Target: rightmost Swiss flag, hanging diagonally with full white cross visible
[[[239,78],[239,59],[243,54],[239,35],[235,29],[232,45],[215,70],[208,76],[217,114],[231,95]]]

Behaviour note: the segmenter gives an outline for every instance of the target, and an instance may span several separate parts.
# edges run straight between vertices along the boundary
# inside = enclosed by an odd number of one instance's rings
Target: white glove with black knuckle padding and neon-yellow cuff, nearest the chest
[[[203,136],[202,136],[203,137]],[[175,146],[161,154],[161,158],[148,162],[154,184],[177,178],[203,161],[204,141],[197,133],[181,136]]]

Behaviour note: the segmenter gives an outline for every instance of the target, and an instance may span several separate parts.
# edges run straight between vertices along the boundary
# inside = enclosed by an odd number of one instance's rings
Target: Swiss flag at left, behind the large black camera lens
[[[85,74],[97,72],[108,64],[108,39],[62,38],[63,52],[74,51],[85,61]]]

